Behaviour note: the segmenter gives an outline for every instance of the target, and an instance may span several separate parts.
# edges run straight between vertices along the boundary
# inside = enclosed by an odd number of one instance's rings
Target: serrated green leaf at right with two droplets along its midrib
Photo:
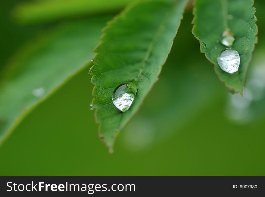
[[[257,25],[253,0],[196,0],[192,33],[200,41],[201,52],[214,64],[215,72],[230,91],[243,93],[248,64],[257,43]],[[238,72],[223,71],[218,63],[219,53],[229,47],[221,44],[222,33],[234,34],[232,48],[240,55]],[[206,44],[206,47],[205,47]]]

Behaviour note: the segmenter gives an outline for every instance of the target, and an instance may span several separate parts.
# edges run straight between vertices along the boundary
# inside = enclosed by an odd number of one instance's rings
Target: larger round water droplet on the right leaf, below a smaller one
[[[235,73],[239,68],[240,56],[236,50],[228,48],[219,53],[217,62],[223,71]]]

